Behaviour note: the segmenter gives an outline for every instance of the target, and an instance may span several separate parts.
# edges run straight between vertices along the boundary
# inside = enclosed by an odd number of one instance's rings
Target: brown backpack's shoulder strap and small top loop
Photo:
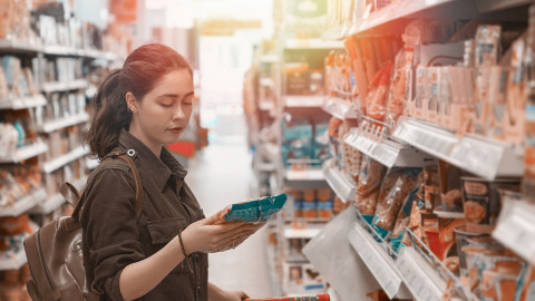
[[[136,164],[134,163],[134,161],[130,158],[130,155],[134,155],[135,152],[130,152],[132,149],[128,151],[128,155],[125,154],[125,152],[121,152],[121,151],[114,151],[109,154],[107,154],[104,158],[103,158],[103,162],[105,159],[108,159],[108,158],[120,158],[123,161],[125,161],[128,166],[130,167],[130,171],[132,171],[132,174],[134,175],[134,182],[136,183],[136,203],[135,203],[135,208],[136,208],[136,217],[139,217],[142,215],[142,210],[143,210],[143,184],[142,184],[142,177],[139,175],[139,169],[137,168]],[[66,185],[67,184],[67,185]],[[79,193],[78,191],[76,190],[76,187],[74,187],[71,184],[69,183],[66,183],[64,185],[61,185],[61,188],[64,188],[64,186],[66,186],[64,190],[66,191],[66,194],[64,194],[64,191],[61,191],[61,194],[64,195],[64,197],[71,204],[75,206],[75,211],[72,212],[72,217],[75,220],[78,220],[79,219],[79,214],[81,212],[81,207],[84,206],[84,195],[85,195],[85,191],[82,193],[81,196],[79,196]],[[72,195],[71,195],[72,194]],[[67,195],[67,196],[66,196]],[[78,195],[77,200],[79,200],[79,202],[71,202],[72,201],[72,196],[76,197],[76,195]],[[71,201],[69,201],[69,198]]]

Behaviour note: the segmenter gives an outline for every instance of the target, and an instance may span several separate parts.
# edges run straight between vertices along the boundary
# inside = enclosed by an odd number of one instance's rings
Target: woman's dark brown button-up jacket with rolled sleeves
[[[123,300],[123,269],[160,250],[191,223],[204,219],[184,182],[186,169],[165,148],[157,158],[142,142],[123,130],[118,149],[134,149],[145,192],[135,217],[135,182],[121,159],[106,159],[89,176],[81,212],[86,275],[103,300]],[[194,253],[154,290],[138,300],[207,300],[207,255]]]

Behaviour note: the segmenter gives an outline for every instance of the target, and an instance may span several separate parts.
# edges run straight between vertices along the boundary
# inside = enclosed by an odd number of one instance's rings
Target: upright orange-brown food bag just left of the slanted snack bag
[[[363,156],[357,183],[356,205],[368,223],[376,212],[377,197],[387,167],[369,156]]]

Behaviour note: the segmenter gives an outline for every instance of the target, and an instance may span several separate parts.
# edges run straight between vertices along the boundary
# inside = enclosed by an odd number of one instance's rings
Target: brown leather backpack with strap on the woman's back
[[[128,152],[130,154],[130,152]],[[143,185],[134,161],[124,152],[111,152],[104,159],[121,158],[128,163],[136,182],[136,215],[143,207]],[[103,159],[103,162],[104,162]],[[84,269],[82,233],[79,213],[84,195],[69,183],[64,183],[61,195],[75,207],[71,216],[62,216],[45,224],[25,240],[25,251],[30,266],[28,293],[33,301],[97,301],[100,294],[91,291]]]

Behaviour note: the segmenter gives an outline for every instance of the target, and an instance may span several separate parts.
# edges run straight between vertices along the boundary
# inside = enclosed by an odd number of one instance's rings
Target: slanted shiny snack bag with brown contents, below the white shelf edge
[[[373,226],[382,237],[393,230],[403,201],[418,192],[418,176],[421,168],[405,168],[385,197],[379,198],[373,217]]]

